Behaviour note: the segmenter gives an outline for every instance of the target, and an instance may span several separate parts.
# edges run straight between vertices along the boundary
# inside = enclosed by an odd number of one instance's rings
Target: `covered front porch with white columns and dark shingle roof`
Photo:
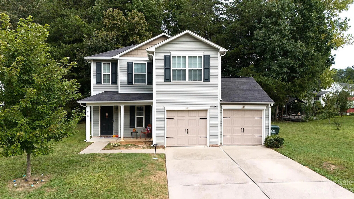
[[[152,98],[152,93],[103,92],[78,101],[86,108],[85,141],[153,141]],[[148,126],[152,130],[143,134]]]

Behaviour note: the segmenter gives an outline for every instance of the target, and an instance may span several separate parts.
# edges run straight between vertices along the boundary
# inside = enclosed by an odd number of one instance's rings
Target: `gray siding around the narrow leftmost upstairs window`
[[[93,60],[92,64],[92,93],[91,95],[96,95],[104,91],[118,91],[118,84],[96,84],[96,62],[118,62],[118,60]],[[117,69],[117,80],[118,80],[118,69]],[[102,80],[103,81],[103,80]],[[112,77],[111,77],[112,82]]]

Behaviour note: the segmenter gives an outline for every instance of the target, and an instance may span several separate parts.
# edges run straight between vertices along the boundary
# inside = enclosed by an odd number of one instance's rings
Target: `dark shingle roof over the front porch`
[[[153,93],[118,93],[117,91],[105,91],[92,95],[78,102],[92,101],[149,101],[153,100]]]

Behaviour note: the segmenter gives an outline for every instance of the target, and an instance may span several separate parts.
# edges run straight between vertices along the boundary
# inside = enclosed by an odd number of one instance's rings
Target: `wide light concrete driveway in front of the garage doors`
[[[264,146],[167,147],[170,199],[354,198],[354,194]]]

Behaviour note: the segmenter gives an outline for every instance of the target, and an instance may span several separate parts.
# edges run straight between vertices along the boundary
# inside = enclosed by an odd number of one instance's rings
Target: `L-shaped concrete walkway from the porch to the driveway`
[[[155,153],[155,149],[123,149],[123,150],[103,150],[109,142],[93,142],[90,146],[86,147],[80,152],[84,153]],[[156,149],[157,153],[165,153],[164,149]]]

